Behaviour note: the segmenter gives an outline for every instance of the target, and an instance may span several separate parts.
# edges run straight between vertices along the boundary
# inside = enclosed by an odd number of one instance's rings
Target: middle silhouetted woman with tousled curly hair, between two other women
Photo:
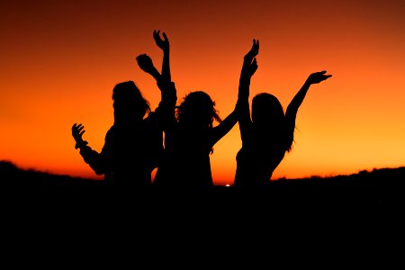
[[[168,70],[168,61],[166,64]],[[157,71],[150,69],[145,71],[157,78]],[[162,77],[165,77],[163,72],[162,69]],[[210,154],[215,143],[238,121],[238,105],[223,121],[210,95],[202,91],[186,94],[182,103],[175,107],[175,85],[167,79],[163,81],[165,83],[158,85],[172,100],[165,113],[165,154],[154,183],[165,187],[211,187]],[[219,122],[216,127],[214,121]]]

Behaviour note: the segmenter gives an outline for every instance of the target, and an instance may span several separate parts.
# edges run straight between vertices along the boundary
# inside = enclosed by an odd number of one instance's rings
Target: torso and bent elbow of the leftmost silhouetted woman
[[[162,151],[162,131],[150,112],[136,125],[112,125],[100,154],[94,150],[81,154],[96,173],[104,174],[106,184],[127,188],[151,185],[151,173]]]

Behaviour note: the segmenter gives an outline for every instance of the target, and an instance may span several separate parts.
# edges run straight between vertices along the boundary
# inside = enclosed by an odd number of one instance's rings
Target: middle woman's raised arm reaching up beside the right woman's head
[[[243,134],[245,133],[245,126],[250,122],[250,111],[248,104],[249,97],[249,85],[250,78],[255,74],[257,70],[257,60],[256,56],[258,54],[259,43],[258,40],[253,40],[252,49],[250,49],[245,55],[242,71],[239,77],[239,86],[238,86],[238,101],[233,112],[230,112],[229,115],[214,128],[212,136],[212,145],[215,144],[220,138],[232,129],[232,127],[239,121],[242,121]],[[240,128],[242,134],[242,127]],[[243,139],[243,135],[242,135]]]

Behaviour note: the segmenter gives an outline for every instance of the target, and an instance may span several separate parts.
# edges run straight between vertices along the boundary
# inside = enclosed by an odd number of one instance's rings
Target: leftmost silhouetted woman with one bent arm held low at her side
[[[85,127],[75,123],[72,135],[76,148],[96,175],[104,175],[106,184],[120,188],[148,187],[163,151],[157,115],[150,112],[148,101],[133,81],[115,85],[112,100],[114,122],[105,135],[101,152],[87,145],[82,139]]]

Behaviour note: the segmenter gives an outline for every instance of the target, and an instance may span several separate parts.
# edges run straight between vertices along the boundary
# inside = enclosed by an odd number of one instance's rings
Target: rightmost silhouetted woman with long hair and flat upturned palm
[[[255,61],[258,41],[247,53],[245,62]],[[326,71],[312,73],[295,94],[284,114],[283,106],[273,94],[257,94],[252,100],[252,116],[248,103],[249,87],[239,95],[241,112],[238,120],[242,148],[237,154],[237,170],[234,186],[261,187],[270,184],[275,168],[291,150],[298,108],[313,84],[326,80],[331,75]]]

